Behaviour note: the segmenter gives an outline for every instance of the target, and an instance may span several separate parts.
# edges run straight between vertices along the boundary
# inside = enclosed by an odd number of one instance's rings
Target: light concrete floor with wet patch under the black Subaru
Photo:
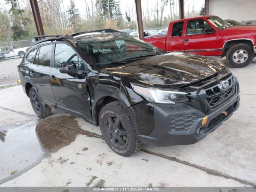
[[[99,127],[59,110],[39,119],[21,86],[1,89],[0,186],[256,186],[256,66],[230,70],[241,102],[229,120],[196,144],[128,158]]]

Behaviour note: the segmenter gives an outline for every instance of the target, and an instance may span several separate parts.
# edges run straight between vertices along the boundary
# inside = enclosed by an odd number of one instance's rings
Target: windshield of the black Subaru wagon
[[[76,44],[96,65],[128,62],[164,52],[134,36],[121,33],[94,33],[76,38]]]

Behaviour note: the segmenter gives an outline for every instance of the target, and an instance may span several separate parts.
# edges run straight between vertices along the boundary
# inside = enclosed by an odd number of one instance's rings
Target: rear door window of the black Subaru
[[[38,55],[38,65],[50,66],[52,44],[41,46]]]

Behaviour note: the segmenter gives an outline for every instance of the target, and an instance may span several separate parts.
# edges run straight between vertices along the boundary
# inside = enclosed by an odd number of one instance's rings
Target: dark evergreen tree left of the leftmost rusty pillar
[[[12,21],[12,38],[18,40],[21,36],[28,35],[27,24],[29,19],[22,16],[24,10],[19,8],[18,0],[6,0],[6,2],[11,5],[9,14]]]

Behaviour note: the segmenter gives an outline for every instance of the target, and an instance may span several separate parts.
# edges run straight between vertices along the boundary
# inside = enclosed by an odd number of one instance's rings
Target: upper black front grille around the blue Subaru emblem
[[[227,100],[230,96],[236,92],[236,83],[234,77],[226,79],[229,82],[229,88],[225,92],[221,92],[218,84],[214,84],[211,87],[207,87],[202,91],[205,91],[204,99],[210,107],[218,106],[222,101]]]

